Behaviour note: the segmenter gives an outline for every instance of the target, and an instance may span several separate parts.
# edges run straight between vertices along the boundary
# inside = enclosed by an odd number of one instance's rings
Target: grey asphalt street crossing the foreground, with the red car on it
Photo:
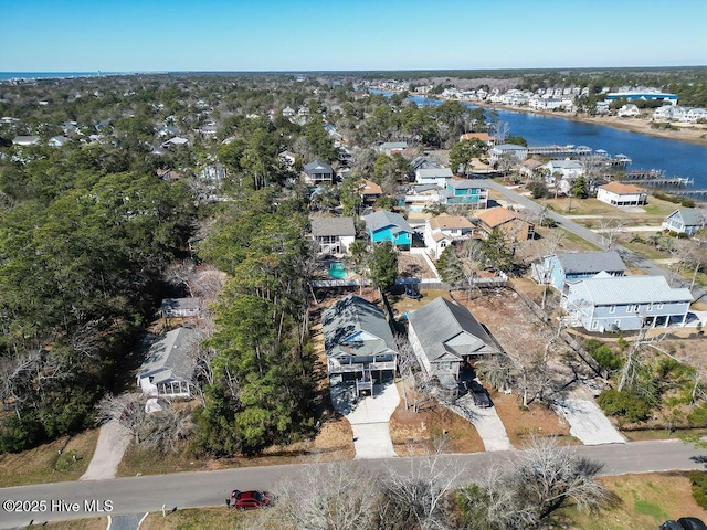
[[[690,457],[704,454],[679,441],[635,442],[619,445],[578,446],[582,456],[603,463],[603,475],[700,469]],[[482,477],[492,464],[499,464],[518,452],[444,455],[450,468],[464,468],[469,481]],[[374,473],[393,469],[409,474],[420,458],[356,460]],[[0,528],[24,528],[44,521],[76,519],[96,515],[127,515],[175,508],[223,505],[232,489],[273,489],[316,464],[267,466],[220,471],[180,473],[109,480],[43,484],[0,489]],[[10,502],[8,502],[10,501]],[[109,501],[107,504],[106,501]],[[19,506],[18,506],[19,505]],[[103,509],[103,511],[99,511]],[[34,510],[34,511],[32,511]]]

